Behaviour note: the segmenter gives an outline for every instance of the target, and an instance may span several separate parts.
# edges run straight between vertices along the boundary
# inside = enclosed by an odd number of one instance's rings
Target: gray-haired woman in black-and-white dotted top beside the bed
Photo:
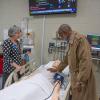
[[[3,84],[4,84],[10,75],[10,73],[17,69],[18,71],[21,68],[21,49],[18,39],[21,36],[21,29],[13,25],[8,30],[9,38],[6,39],[2,45],[3,47],[3,56],[4,56],[4,64],[3,64]]]

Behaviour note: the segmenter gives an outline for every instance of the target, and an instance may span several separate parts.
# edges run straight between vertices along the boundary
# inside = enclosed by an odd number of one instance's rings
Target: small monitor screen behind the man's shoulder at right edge
[[[100,48],[100,36],[98,35],[87,35],[87,39],[91,46]]]

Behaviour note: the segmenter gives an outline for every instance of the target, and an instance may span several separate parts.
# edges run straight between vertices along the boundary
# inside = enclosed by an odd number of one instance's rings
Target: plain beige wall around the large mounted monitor
[[[29,16],[28,0],[0,0],[0,33],[2,33],[2,29],[20,23],[23,17],[27,16]],[[59,25],[63,23],[71,25],[73,30],[80,33],[100,34],[100,0],[78,0],[78,12],[76,16],[65,14],[46,16],[44,63],[48,61],[48,42],[50,38],[55,36]],[[43,16],[35,16],[30,20],[29,27],[35,32],[36,55],[39,63],[42,25]]]

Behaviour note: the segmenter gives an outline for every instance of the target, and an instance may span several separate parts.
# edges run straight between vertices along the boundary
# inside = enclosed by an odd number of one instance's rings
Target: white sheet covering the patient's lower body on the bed
[[[20,81],[0,91],[0,100],[44,100],[53,85],[41,73]]]

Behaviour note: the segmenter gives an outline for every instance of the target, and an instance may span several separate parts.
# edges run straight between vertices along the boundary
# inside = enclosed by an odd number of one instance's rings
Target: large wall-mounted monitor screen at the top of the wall
[[[29,0],[30,15],[76,13],[77,0]]]

